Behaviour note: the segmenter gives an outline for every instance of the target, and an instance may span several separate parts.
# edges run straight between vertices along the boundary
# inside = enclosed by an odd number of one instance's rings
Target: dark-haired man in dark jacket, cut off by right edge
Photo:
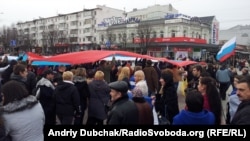
[[[236,85],[237,96],[241,101],[231,121],[232,125],[250,125],[250,76],[245,76]]]

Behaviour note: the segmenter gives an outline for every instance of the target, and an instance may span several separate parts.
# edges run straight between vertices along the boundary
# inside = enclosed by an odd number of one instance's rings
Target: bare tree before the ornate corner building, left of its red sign
[[[137,29],[138,37],[140,38],[139,46],[141,48],[141,54],[147,54],[148,47],[151,43],[152,27],[148,21],[139,23]]]

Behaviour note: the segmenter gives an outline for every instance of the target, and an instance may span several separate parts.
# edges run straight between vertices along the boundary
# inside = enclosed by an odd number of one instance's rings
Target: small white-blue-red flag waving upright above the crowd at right
[[[236,37],[233,37],[227,41],[216,55],[216,59],[220,62],[225,61],[230,56],[234,55],[234,49],[236,48]]]

